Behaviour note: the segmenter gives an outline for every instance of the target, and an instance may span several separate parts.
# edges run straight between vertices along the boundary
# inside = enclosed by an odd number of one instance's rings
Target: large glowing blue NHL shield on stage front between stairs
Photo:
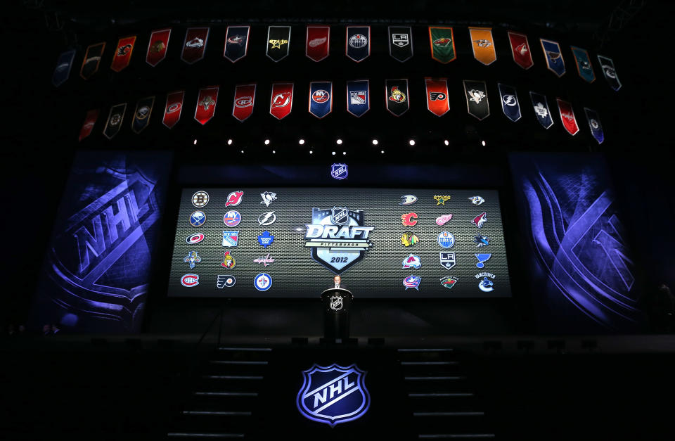
[[[302,372],[304,383],[297,394],[297,409],[302,416],[334,427],[364,416],[371,404],[366,390],[366,371],[355,364],[342,367],[312,366]]]

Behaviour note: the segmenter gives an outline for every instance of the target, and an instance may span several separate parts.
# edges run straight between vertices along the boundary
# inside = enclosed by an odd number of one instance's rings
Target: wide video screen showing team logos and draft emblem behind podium
[[[494,190],[184,188],[169,295],[509,297]]]

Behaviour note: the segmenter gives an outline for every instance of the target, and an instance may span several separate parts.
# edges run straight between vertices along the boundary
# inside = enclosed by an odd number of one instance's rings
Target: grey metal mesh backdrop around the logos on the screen
[[[207,191],[209,203],[195,208],[192,195],[195,191]],[[242,202],[236,207],[225,207],[231,191],[243,191]],[[273,191],[277,199],[269,207],[262,203],[260,193]],[[413,194],[418,201],[412,205],[399,205],[401,196]],[[445,205],[437,205],[435,195],[449,195]],[[485,199],[475,206],[468,198],[480,195]],[[181,195],[179,217],[176,226],[174,255],[169,280],[169,295],[186,297],[269,297],[269,298],[316,298],[321,291],[333,283],[333,272],[311,258],[309,248],[304,246],[305,224],[311,223],[311,209],[330,209],[334,206],[349,210],[364,211],[364,225],[374,226],[368,238],[373,243],[364,258],[347,269],[342,283],[359,298],[484,298],[509,297],[510,281],[504,248],[504,234],[497,191],[489,190],[433,190],[433,189],[391,189],[391,188],[185,188]],[[206,222],[200,227],[190,224],[193,211],[206,213]],[[223,216],[229,210],[241,214],[236,227],[228,227]],[[274,210],[276,222],[259,226],[258,217]],[[415,226],[403,226],[401,215],[416,212]],[[477,229],[471,220],[487,212],[487,222]],[[451,213],[452,219],[444,226],[436,224],[440,215]],[[300,229],[300,231],[297,231]],[[222,234],[226,230],[239,230],[236,247],[223,247]],[[263,231],[274,235],[274,242],[267,248],[259,245],[257,236]],[[420,239],[409,247],[401,244],[401,234],[411,231]],[[441,248],[437,236],[449,231],[455,237],[452,248]],[[195,245],[188,245],[186,238],[194,233],[203,233],[206,238]],[[489,245],[477,248],[473,239],[477,234],[488,236]],[[202,261],[190,269],[184,262],[188,251],[198,251]],[[220,266],[223,254],[230,251],[236,260],[236,267],[225,269]],[[442,251],[454,252],[456,265],[445,269],[439,261]],[[257,257],[269,253],[274,263],[264,267],[254,263]],[[410,253],[418,255],[420,269],[401,269],[402,262]],[[482,269],[474,253],[491,253],[490,260]],[[494,290],[484,293],[478,288],[475,275],[487,271],[495,275]],[[254,286],[259,273],[271,276],[269,290],[259,291]],[[199,285],[186,288],[180,279],[184,274],[198,274]],[[217,288],[217,274],[235,276],[236,284],[231,288]],[[422,276],[419,290],[405,289],[403,279],[414,274]],[[451,289],[444,288],[440,280],[444,276],[455,276],[457,283]]]

